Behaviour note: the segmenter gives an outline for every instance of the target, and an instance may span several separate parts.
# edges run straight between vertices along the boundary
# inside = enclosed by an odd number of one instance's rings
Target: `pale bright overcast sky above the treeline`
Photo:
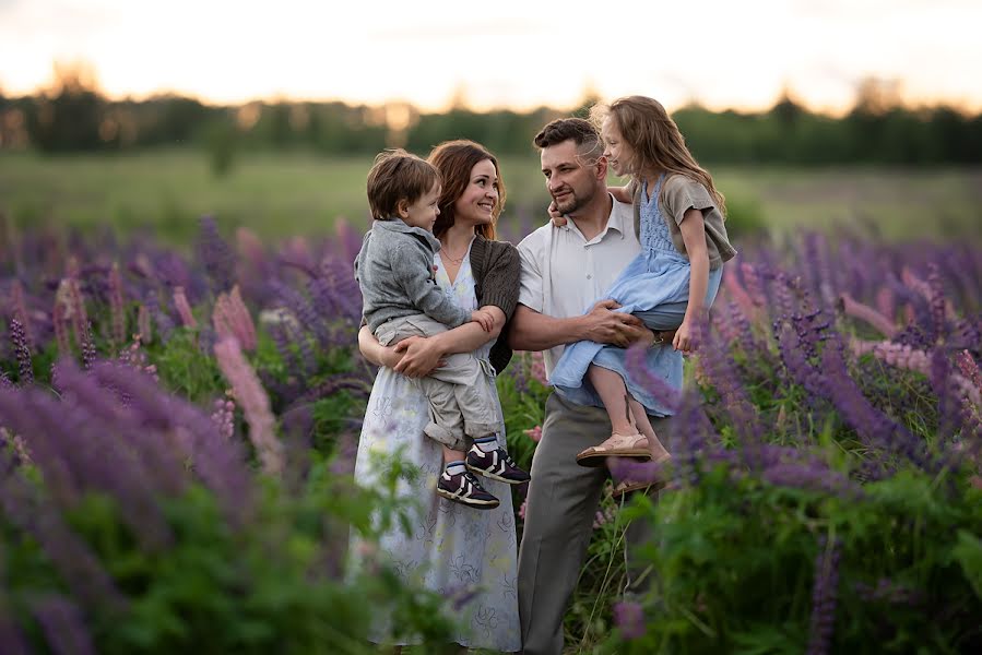
[[[856,84],[982,109],[980,0],[0,0],[0,90],[92,64],[104,92],[206,102],[403,99],[425,109],[575,105],[640,93],[670,108],[816,109]],[[336,7],[336,9],[335,9]]]

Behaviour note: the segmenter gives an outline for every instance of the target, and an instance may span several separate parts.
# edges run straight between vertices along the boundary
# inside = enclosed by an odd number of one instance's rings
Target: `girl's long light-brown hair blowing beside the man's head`
[[[616,122],[624,141],[635,151],[638,159],[631,163],[636,170],[635,179],[641,170],[652,169],[664,170],[666,175],[684,175],[706,187],[725,217],[725,198],[717,190],[709,171],[699,166],[686,147],[678,126],[661,103],[646,96],[627,96],[610,105],[598,104],[590,108],[590,119],[598,130],[608,117]]]

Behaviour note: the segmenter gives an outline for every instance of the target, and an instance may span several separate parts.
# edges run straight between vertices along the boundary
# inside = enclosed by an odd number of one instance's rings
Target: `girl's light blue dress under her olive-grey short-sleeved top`
[[[596,300],[613,298],[622,305],[616,311],[637,314],[655,331],[674,330],[682,324],[689,298],[689,261],[672,243],[669,226],[658,207],[658,196],[665,176],[648,195],[641,189],[641,252],[620,273],[611,288]],[[709,272],[706,306],[712,305],[720,288],[723,267]],[[585,308],[590,311],[591,307]],[[595,342],[577,342],[566,347],[556,364],[549,383],[565,398],[580,405],[603,407],[600,396],[585,378],[591,364],[611,369],[624,378],[628,392],[653,416],[669,416],[671,409],[632,380],[625,365],[626,350]],[[673,389],[682,389],[682,353],[672,344],[650,348],[646,364],[651,374],[662,378]]]

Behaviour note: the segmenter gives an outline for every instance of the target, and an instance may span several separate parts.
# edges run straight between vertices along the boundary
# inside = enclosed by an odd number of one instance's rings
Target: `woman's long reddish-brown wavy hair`
[[[478,162],[485,159],[490,159],[495,165],[495,174],[498,176],[498,202],[495,203],[495,209],[492,211],[492,222],[487,225],[478,225],[476,231],[485,239],[495,240],[498,234],[495,226],[498,223],[498,216],[501,215],[501,209],[505,206],[505,180],[501,179],[497,157],[483,145],[465,139],[445,141],[429,153],[427,160],[440,171],[440,178],[443,180],[443,189],[438,201],[440,215],[437,216],[437,222],[433,226],[433,234],[438,239],[453,225],[453,203],[471,183],[471,169]]]

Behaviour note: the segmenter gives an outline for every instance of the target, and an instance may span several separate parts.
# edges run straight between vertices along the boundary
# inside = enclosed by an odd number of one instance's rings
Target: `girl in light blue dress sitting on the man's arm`
[[[600,126],[611,169],[632,178],[628,187],[612,191],[617,200],[634,203],[641,241],[641,252],[605,297],[652,331],[675,330],[673,347],[687,353],[695,322],[719,290],[723,262],[736,254],[723,224],[723,196],[656,100],[620,98],[610,107],[594,106],[591,118]],[[608,456],[671,458],[648,420],[648,412],[664,410],[643,390],[626,383],[625,353],[578,342],[566,348],[549,380],[567,396],[594,405],[599,396],[611,417],[611,438],[577,455],[583,466],[600,466]]]

